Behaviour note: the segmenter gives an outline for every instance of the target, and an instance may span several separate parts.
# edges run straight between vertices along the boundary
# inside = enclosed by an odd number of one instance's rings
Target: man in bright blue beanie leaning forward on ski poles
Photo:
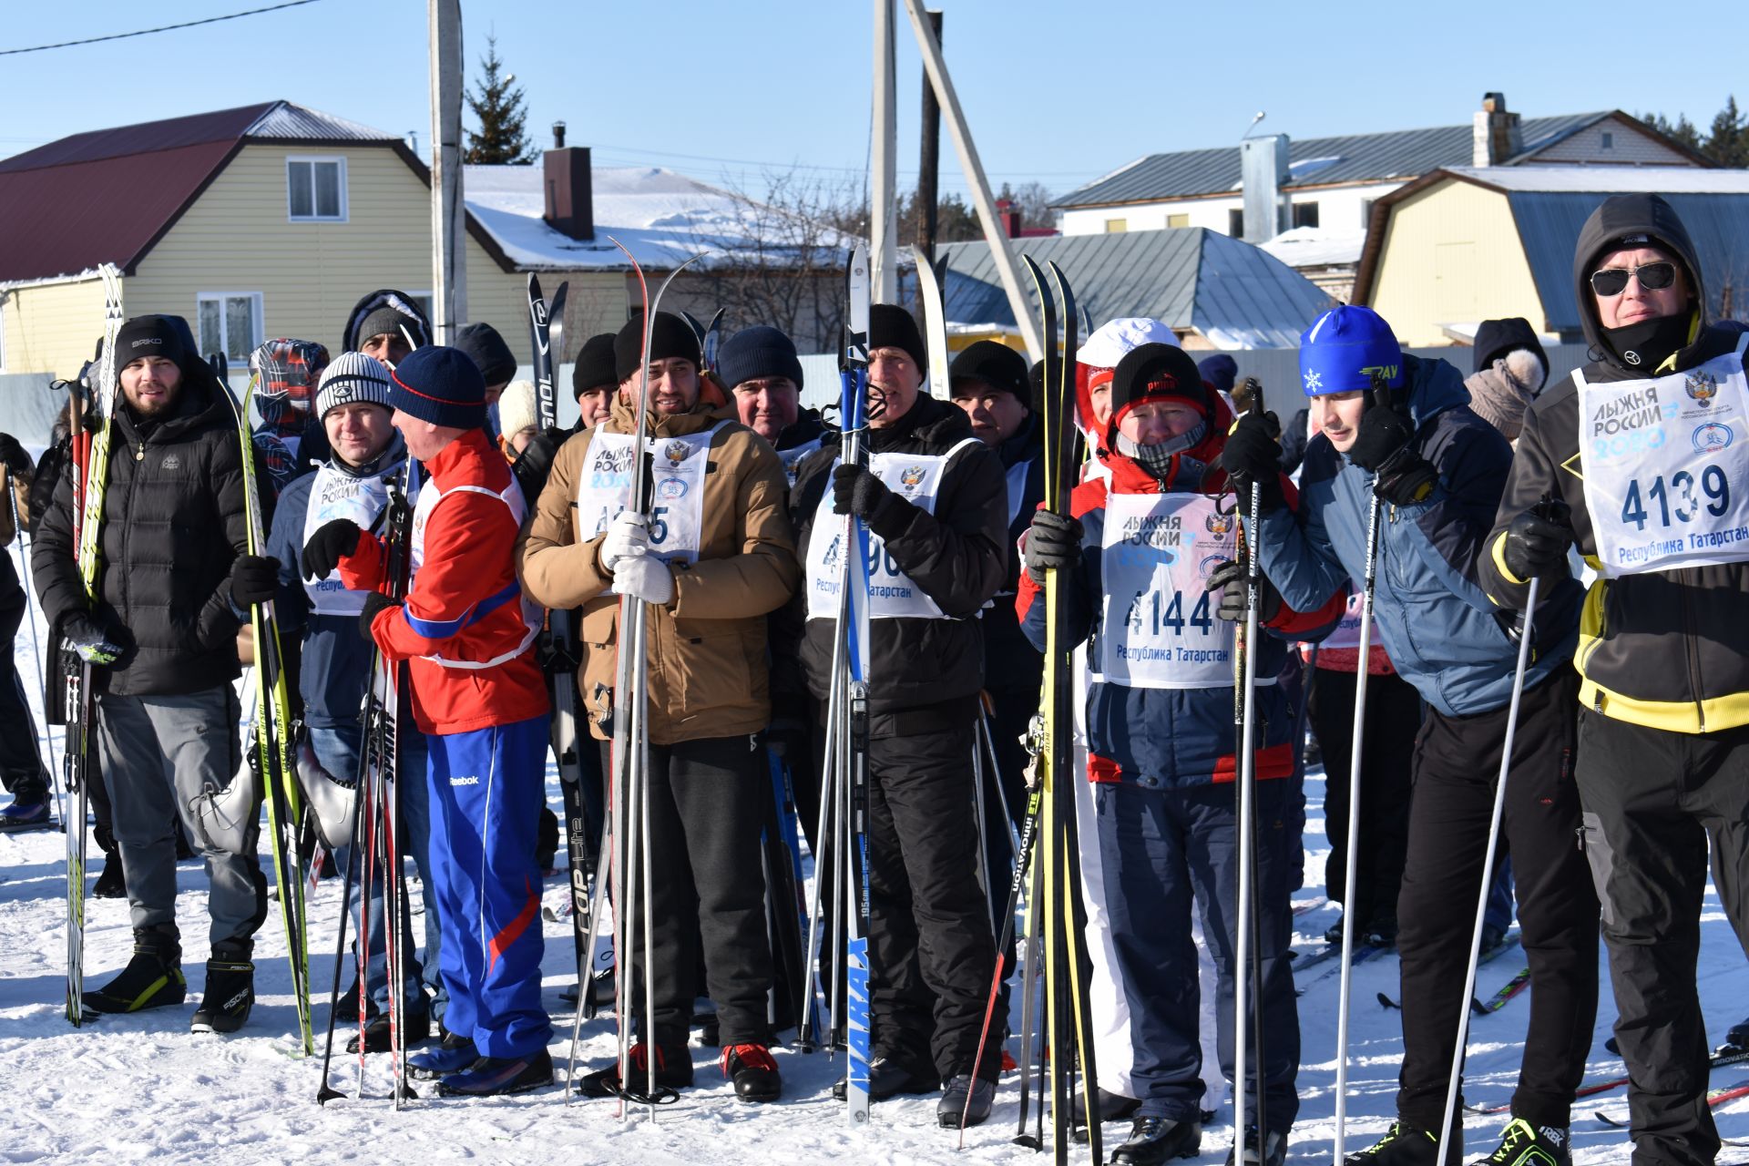
[[[1341,306],[1301,337],[1300,372],[1322,432],[1307,442],[1298,514],[1273,488],[1280,455],[1263,416],[1240,418],[1221,456],[1240,500],[1251,498],[1251,482],[1263,489],[1259,566],[1286,603],[1310,610],[1366,577],[1368,516],[1378,505],[1373,619],[1390,664],[1427,703],[1397,897],[1397,1119],[1345,1163],[1443,1166],[1462,1157],[1462,1121],[1452,1129],[1441,1122],[1467,1003],[1474,932],[1466,918],[1481,895],[1518,638],[1534,636],[1502,816],[1530,963],[1530,1026],[1513,1121],[1487,1161],[1565,1166],[1572,1094],[1597,1017],[1597,893],[1574,846],[1579,677],[1571,661],[1581,587],[1553,584],[1530,628],[1483,589],[1488,528],[1513,451],[1471,411],[1457,369],[1404,353],[1375,311]]]

